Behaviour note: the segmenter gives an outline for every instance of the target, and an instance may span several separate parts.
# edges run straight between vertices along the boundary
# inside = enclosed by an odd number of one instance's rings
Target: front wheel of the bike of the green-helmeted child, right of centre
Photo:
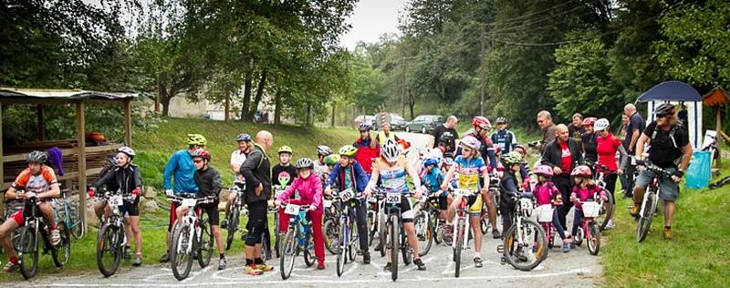
[[[531,271],[547,258],[545,230],[535,221],[523,219],[522,225],[513,224],[504,240],[506,261],[521,271]]]

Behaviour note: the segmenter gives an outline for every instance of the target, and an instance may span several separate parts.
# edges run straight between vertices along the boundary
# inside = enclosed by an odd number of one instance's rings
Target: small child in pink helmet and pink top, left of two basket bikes
[[[553,169],[547,165],[537,166],[535,169],[537,175],[537,185],[532,190],[532,194],[537,201],[537,205],[552,205],[553,208],[563,204],[563,197],[560,195],[560,191],[555,187],[553,181],[550,179],[553,177]],[[565,236],[565,229],[560,225],[558,221],[558,210],[553,210],[553,227],[558,231],[560,239],[563,240],[563,252],[570,251],[570,237]]]

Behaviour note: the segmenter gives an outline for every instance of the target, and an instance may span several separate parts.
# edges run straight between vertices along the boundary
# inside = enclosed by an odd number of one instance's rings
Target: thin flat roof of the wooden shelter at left
[[[121,100],[135,98],[138,93],[109,93],[72,89],[33,89],[0,87],[0,100],[3,98],[46,98],[46,99],[100,99]]]

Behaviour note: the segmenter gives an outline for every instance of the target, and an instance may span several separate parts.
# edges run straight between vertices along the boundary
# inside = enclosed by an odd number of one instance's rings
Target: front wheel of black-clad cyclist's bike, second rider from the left
[[[119,228],[105,224],[97,236],[97,266],[104,277],[117,273],[120,266],[121,245],[118,240]]]

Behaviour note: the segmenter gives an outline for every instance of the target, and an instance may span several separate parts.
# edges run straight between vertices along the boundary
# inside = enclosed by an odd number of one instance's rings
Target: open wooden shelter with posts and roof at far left
[[[103,93],[84,90],[27,89],[0,87],[0,135],[3,134],[3,107],[9,105],[36,105],[38,141],[14,147],[3,147],[0,141],[0,190],[7,190],[20,170],[25,169],[26,154],[30,150],[46,150],[58,147],[63,155],[64,175],[57,175],[62,189],[85,191],[89,179],[99,175],[106,155],[118,149],[120,144],[105,144],[94,147],[86,145],[87,104],[121,105],[124,108],[124,143],[131,145],[131,100],[136,94]],[[49,105],[76,106],[76,138],[47,141],[45,139],[44,107]],[[101,157],[100,157],[101,156]],[[79,193],[80,215],[86,215],[86,197]],[[5,194],[0,194],[0,215],[5,213]]]

